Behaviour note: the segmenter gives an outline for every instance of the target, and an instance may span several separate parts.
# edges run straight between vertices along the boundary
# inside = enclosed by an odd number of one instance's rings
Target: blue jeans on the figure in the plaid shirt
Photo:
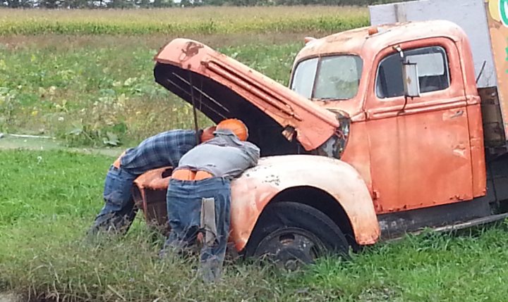
[[[137,208],[132,197],[133,175],[122,168],[109,168],[104,182],[104,207],[100,211],[90,232],[126,232],[131,226]]]

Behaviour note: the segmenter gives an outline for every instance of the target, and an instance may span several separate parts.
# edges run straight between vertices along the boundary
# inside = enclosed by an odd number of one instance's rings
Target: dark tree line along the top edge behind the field
[[[0,0],[8,8],[164,8],[174,6],[365,6],[397,0]],[[400,0],[398,0],[400,1]]]

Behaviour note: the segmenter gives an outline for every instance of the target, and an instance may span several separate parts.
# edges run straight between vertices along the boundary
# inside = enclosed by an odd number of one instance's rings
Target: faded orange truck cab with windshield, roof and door
[[[418,67],[418,96],[404,91],[403,60]],[[367,27],[308,42],[291,89],[349,116],[341,160],[360,172],[376,213],[438,206],[485,194],[471,61],[448,21]]]

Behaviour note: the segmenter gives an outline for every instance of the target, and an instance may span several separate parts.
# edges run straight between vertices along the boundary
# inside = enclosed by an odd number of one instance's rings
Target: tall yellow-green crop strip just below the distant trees
[[[366,8],[339,6],[0,10],[0,35],[339,32],[365,25]]]

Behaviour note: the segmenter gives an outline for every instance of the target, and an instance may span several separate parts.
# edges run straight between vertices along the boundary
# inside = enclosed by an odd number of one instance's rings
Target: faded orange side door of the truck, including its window
[[[459,51],[447,38],[397,46],[417,63],[421,95],[406,99],[399,52],[381,51],[365,101],[377,213],[472,199]]]

